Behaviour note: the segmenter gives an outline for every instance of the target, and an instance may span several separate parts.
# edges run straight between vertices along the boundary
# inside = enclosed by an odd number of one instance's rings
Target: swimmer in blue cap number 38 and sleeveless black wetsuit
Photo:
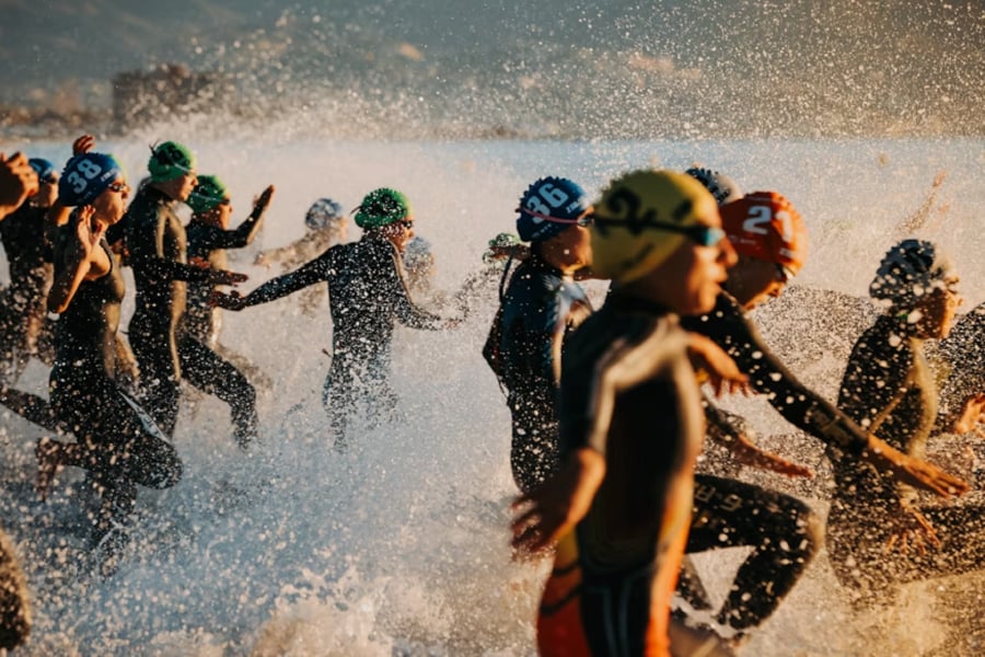
[[[61,203],[77,209],[55,243],[48,309],[60,316],[49,399],[55,417],[77,440],[43,438],[37,445],[43,498],[66,465],[91,472],[102,491],[91,546],[104,575],[115,570],[128,542],[137,485],[166,488],[182,475],[174,448],[114,379],[125,284],[104,234],[124,216],[128,192],[119,164],[109,155],[76,155],[62,172]]]

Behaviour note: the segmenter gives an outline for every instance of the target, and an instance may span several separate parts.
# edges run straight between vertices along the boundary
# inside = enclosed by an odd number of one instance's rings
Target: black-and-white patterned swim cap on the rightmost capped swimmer
[[[932,242],[903,240],[882,257],[869,295],[894,307],[913,308],[955,276],[951,260]]]

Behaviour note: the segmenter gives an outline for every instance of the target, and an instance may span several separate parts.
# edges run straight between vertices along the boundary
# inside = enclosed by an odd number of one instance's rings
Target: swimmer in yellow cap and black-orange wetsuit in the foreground
[[[559,540],[541,655],[670,655],[705,435],[677,314],[715,303],[735,260],[720,226],[715,198],[683,173],[627,174],[595,205],[592,269],[613,289],[565,350],[557,473],[518,500],[513,521],[520,550]]]

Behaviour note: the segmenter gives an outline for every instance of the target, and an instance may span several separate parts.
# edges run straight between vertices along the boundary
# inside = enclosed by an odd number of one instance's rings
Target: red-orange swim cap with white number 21
[[[720,208],[721,226],[735,251],[784,267],[792,278],[803,267],[808,232],[800,212],[776,192],[753,192]]]

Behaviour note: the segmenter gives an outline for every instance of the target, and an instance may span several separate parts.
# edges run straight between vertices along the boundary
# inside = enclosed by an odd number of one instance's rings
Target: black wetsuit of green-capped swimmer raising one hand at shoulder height
[[[262,219],[262,212],[251,215],[236,230],[193,220],[186,229],[188,260],[200,258],[213,269],[225,269],[225,250],[250,244]],[[188,382],[229,404],[236,441],[245,448],[256,437],[256,390],[216,348],[221,319],[219,310],[209,304],[216,287],[209,281],[188,284],[188,303],[178,327],[178,358]]]

